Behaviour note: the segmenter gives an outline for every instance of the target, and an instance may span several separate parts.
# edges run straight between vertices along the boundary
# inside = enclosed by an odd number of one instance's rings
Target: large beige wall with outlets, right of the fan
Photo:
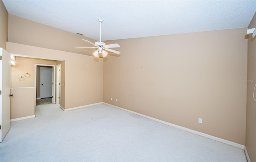
[[[246,29],[107,42],[103,101],[244,145]]]

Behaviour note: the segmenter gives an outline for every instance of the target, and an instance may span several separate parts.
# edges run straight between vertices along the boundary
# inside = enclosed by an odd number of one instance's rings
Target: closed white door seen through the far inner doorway
[[[41,98],[52,97],[52,68],[40,67]]]

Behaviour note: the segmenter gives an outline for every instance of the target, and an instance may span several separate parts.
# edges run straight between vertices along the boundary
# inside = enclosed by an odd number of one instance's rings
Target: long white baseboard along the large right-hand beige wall
[[[209,134],[205,134],[205,133],[202,133],[202,132],[198,132],[198,131],[196,131],[196,130],[188,129],[188,128],[185,128],[185,127],[183,127],[183,126],[178,126],[178,125],[176,125],[176,124],[172,124],[172,123],[165,122],[165,121],[162,121],[162,120],[159,120],[159,119],[156,119],[156,118],[152,118],[152,117],[150,117],[150,116],[146,116],[146,115],[140,114],[140,113],[138,113],[138,112],[133,112],[133,111],[130,111],[130,110],[127,110],[127,109],[124,109],[124,108],[120,108],[120,107],[118,107],[118,106],[114,106],[114,105],[108,104],[108,103],[106,103],[106,102],[103,102],[103,103],[104,103],[104,104],[107,104],[107,105],[109,105],[109,106],[113,106],[113,107],[115,107],[115,108],[119,108],[119,109],[124,110],[124,111],[127,111],[127,112],[131,112],[131,113],[133,113],[133,114],[137,114],[137,115],[143,116],[143,117],[148,118],[148,119],[151,119],[151,120],[155,120],[155,121],[157,121],[157,122],[166,124],[166,125],[168,125],[168,126],[172,126],[172,127],[174,127],[174,128],[178,128],[178,129],[181,129],[181,130],[185,130],[185,131],[187,131],[187,132],[194,133],[194,134],[197,134],[197,135],[199,135],[199,136],[203,136],[203,137],[206,137],[206,138],[210,138],[210,139],[212,139],[212,140],[216,140],[216,141],[218,141],[218,142],[222,142],[222,143],[224,143],[224,144],[228,144],[228,145],[231,145],[231,146],[234,146],[234,147],[237,147],[237,148],[241,148],[241,149],[243,149],[243,150],[244,150],[244,148],[245,148],[245,146],[242,145],[242,144],[238,144],[238,143],[235,143],[235,142],[231,142],[231,141],[228,141],[228,140],[224,140],[224,139],[222,139],[222,138],[218,138],[218,137],[215,137],[215,136],[211,136],[211,135],[209,135]]]

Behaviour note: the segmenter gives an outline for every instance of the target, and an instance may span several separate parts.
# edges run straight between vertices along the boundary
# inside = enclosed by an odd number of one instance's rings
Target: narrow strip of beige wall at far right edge
[[[248,29],[256,28],[256,14]],[[249,34],[248,38],[248,73],[247,73],[247,112],[246,112],[246,150],[250,160],[256,162],[256,102],[253,99],[256,84],[256,38]],[[255,92],[256,94],[256,92]],[[256,98],[256,95],[255,95]]]

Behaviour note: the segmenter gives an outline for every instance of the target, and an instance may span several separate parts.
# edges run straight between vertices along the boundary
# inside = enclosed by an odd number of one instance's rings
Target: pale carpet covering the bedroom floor
[[[105,104],[36,106],[11,123],[2,162],[247,162],[244,150]]]

